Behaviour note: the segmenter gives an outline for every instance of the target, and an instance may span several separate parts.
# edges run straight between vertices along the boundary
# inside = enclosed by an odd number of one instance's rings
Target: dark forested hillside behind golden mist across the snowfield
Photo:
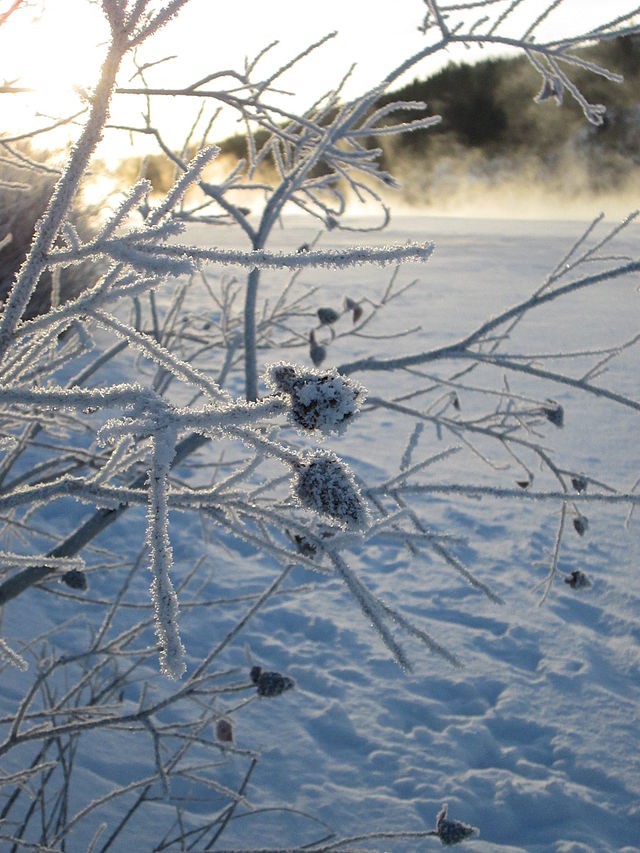
[[[488,200],[544,197],[565,206],[640,196],[640,40],[623,37],[582,51],[598,65],[624,76],[616,84],[573,68],[571,78],[593,104],[605,104],[604,124],[588,123],[565,93],[562,106],[535,102],[541,80],[524,57],[450,63],[436,74],[384,95],[393,101],[423,101],[442,123],[403,136],[371,137],[382,150],[381,167],[397,177],[410,207],[452,208]],[[390,114],[391,123],[419,113]],[[258,146],[266,134],[258,132]],[[246,154],[246,138],[218,143],[222,154]],[[147,158],[147,175],[158,189],[171,178],[162,158]],[[635,196],[635,198],[634,198]]]

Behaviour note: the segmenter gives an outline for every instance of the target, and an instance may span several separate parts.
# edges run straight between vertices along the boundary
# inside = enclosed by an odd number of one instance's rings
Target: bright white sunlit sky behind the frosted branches
[[[0,12],[8,5],[8,0],[0,0]],[[102,51],[97,45],[106,37],[99,5],[90,0],[44,0],[39,19],[34,20],[33,10],[25,11],[0,27],[2,78],[38,90],[37,97],[1,96],[0,131],[6,134],[15,127],[32,128],[34,111],[59,117],[78,108],[74,86],[91,87],[95,83]],[[544,0],[525,0],[523,5],[530,10],[530,21],[548,4]],[[541,30],[540,39],[584,31],[634,6],[631,0],[611,0],[606,4],[602,0],[565,0]],[[287,100],[287,105],[303,108],[335,85],[352,62],[357,63],[357,68],[347,89],[351,96],[375,85],[403,59],[420,50],[424,37],[417,27],[424,9],[422,0],[191,0],[179,17],[145,46],[140,60],[149,62],[176,55],[176,59],[149,71],[148,81],[152,85],[184,86],[220,69],[241,70],[245,56],[254,56],[278,40],[278,47],[264,60],[267,73],[303,47],[337,30],[335,39],[283,78],[284,88],[302,96]],[[512,32],[515,31],[517,26]],[[469,60],[477,55],[459,48],[441,56],[438,63],[432,60],[431,64],[420,66],[411,72],[411,77],[426,76],[449,58]],[[129,67],[122,76],[122,85],[133,85],[127,81],[130,73]],[[114,104],[112,119],[140,124],[143,108],[141,98],[120,97]],[[194,103],[158,99],[154,109],[158,123],[169,126],[168,141],[179,145],[177,128],[190,123]],[[37,121],[46,123],[44,118]],[[221,126],[224,133],[233,130],[233,125]],[[126,135],[119,134],[118,138],[120,144],[126,144]]]

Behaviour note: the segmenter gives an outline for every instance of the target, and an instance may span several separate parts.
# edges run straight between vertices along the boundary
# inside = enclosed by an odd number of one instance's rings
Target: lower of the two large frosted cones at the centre
[[[363,530],[369,513],[353,473],[334,453],[317,451],[299,465],[293,494],[306,509],[329,516],[340,527]]]

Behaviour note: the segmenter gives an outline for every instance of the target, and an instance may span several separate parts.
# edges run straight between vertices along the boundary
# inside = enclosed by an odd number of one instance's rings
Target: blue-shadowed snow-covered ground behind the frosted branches
[[[356,349],[353,339],[338,340],[327,363],[376,350],[419,351],[471,331],[532,292],[581,228],[572,222],[394,219],[382,236],[365,235],[367,241],[434,239],[437,250],[425,266],[402,269],[403,281],[419,277],[420,283],[389,307],[384,330],[421,329],[396,340],[361,339]],[[311,229],[294,221],[278,239],[290,248],[312,237]],[[365,237],[333,232],[323,245]],[[637,257],[638,237],[633,226],[617,252]],[[203,233],[203,242],[210,239]],[[214,242],[222,241],[231,243],[231,233],[219,229]],[[307,271],[300,286],[317,285],[318,305],[332,305],[365,292],[376,298],[388,277],[388,270],[371,267],[339,275]],[[580,295],[566,310],[554,306],[532,314],[518,330],[518,345],[530,352],[597,348],[636,333],[639,309],[637,283],[611,282]],[[407,382],[393,374],[356,378],[379,396],[398,393]],[[637,398],[637,352],[625,353],[599,381]],[[512,388],[526,393],[529,383],[512,379]],[[631,488],[640,475],[637,413],[570,388],[550,386],[548,396],[565,408],[563,430],[552,428],[554,458],[620,490]],[[411,418],[379,411],[361,417],[329,446],[375,484],[397,470],[413,426]],[[414,458],[452,443],[439,442],[427,428]],[[513,488],[519,475],[516,465],[494,471],[461,452],[427,469],[421,481]],[[535,485],[553,487],[543,474]],[[366,551],[354,547],[348,559],[359,576],[464,664],[455,669],[409,639],[414,669],[404,673],[339,579],[294,569],[288,588],[302,591],[272,599],[225,659],[247,669],[250,657],[296,681],[294,690],[254,701],[234,717],[236,745],[261,752],[248,799],[254,806],[313,815],[340,834],[429,829],[447,802],[451,817],[480,828],[480,836],[460,848],[470,851],[640,850],[638,521],[625,526],[622,506],[585,509],[589,529],[583,537],[567,534],[559,578],[540,606],[557,504],[415,495],[411,505],[431,528],[464,538],[456,554],[504,605],[469,587],[433,553],[412,556],[382,540]],[[140,523],[141,516],[131,513],[118,523],[118,536],[126,541]],[[195,535],[189,525],[174,526],[177,571],[188,563]],[[109,536],[112,544],[113,531]],[[249,546],[225,549],[212,535],[207,548],[212,595],[260,589],[273,577],[270,560]],[[575,569],[590,577],[590,589],[563,582]],[[14,612],[8,610],[4,629],[12,644],[19,642],[21,620],[28,630],[55,616],[50,597],[30,597],[25,622],[26,606],[16,602]],[[64,604],[56,607],[62,615]],[[224,637],[238,612],[229,607],[206,625],[185,618],[183,639],[193,663],[216,636]],[[5,671],[4,678],[14,679],[5,688],[13,695],[22,676]],[[103,742],[104,752],[96,747],[87,758],[87,780],[96,774],[124,782],[130,766],[145,760],[131,753],[125,760],[122,750],[112,751],[113,743]],[[221,768],[223,780],[233,775],[235,760],[229,757]],[[205,806],[187,799],[190,808]],[[144,826],[132,832],[135,843],[128,849],[152,849]],[[322,833],[293,811],[261,811],[235,821],[222,846],[284,849]],[[85,849],[84,843],[72,840],[69,849]],[[430,839],[368,846],[404,853],[440,844]]]

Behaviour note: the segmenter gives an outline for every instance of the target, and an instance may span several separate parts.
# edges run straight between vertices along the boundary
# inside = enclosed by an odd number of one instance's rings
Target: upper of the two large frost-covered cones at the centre
[[[268,372],[271,387],[288,394],[289,418],[302,430],[323,435],[342,433],[360,410],[366,391],[337,370],[303,370],[291,364],[274,364]]]

